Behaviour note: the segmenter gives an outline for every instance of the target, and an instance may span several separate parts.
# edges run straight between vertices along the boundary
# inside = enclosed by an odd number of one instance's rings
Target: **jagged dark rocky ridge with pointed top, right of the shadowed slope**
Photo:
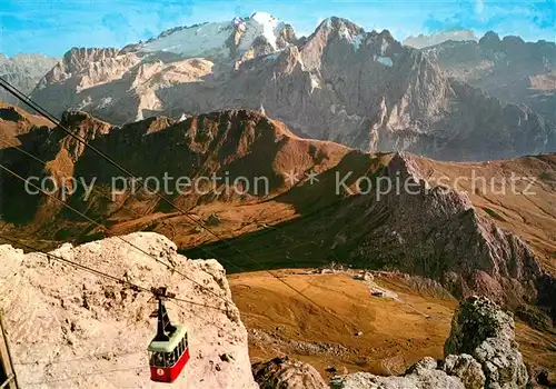
[[[367,222],[375,228],[363,237],[355,258],[373,257],[381,267],[407,267],[411,273],[441,279],[457,296],[480,292],[499,302],[535,299],[534,285],[544,271],[518,237],[480,216],[465,193],[428,183],[410,154],[396,154],[387,174],[390,182],[399,178],[415,187],[360,200],[367,202]]]

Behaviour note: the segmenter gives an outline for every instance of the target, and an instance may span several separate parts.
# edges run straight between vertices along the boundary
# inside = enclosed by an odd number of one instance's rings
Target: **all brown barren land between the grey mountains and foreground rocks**
[[[190,259],[216,258],[231,273],[255,357],[286,352],[320,371],[334,366],[377,373],[401,372],[424,356],[439,358],[456,306],[441,283],[455,297],[481,293],[513,308],[532,326],[518,325],[525,357],[556,368],[556,154],[455,163],[366,153],[301,139],[255,111],[212,112],[178,122],[160,117],[122,128],[83,112],[64,117],[72,131],[139,177],[165,171],[173,177],[270,177],[265,194],[226,196],[214,188],[203,196],[171,197],[181,213],[145,191],[111,199],[110,177],[119,171],[59,130],[38,129],[41,123],[32,128],[34,119],[24,112],[2,112],[0,124],[11,131],[7,141],[46,162],[9,147],[0,150],[2,164],[22,176],[99,178],[90,198],[77,191],[66,200],[87,220],[63,209],[60,198],[27,196],[21,182],[2,174],[2,233],[56,248],[64,241],[155,231]],[[308,180],[309,172],[318,180]],[[291,173],[299,180],[289,181]],[[336,177],[346,173],[353,174],[348,189],[336,191]],[[473,174],[495,188],[476,190]],[[513,174],[517,191],[509,181],[502,190],[499,180]],[[411,179],[420,192],[389,192],[380,199],[353,192],[356,178],[398,176]],[[447,180],[439,182],[443,176]],[[377,277],[375,289],[385,288],[378,291],[390,296],[378,297],[348,275],[277,270],[325,312],[268,273],[251,272],[332,261],[423,278]]]

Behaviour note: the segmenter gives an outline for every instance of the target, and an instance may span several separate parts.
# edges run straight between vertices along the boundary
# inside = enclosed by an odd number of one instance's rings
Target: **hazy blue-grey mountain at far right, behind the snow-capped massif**
[[[556,44],[500,39],[487,32],[476,41],[447,41],[425,53],[449,77],[507,103],[525,104],[556,122]]]

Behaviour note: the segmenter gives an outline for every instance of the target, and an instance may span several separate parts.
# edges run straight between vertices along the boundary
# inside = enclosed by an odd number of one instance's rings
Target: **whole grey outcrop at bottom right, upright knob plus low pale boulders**
[[[400,377],[358,372],[334,377],[331,387],[517,389],[527,383],[527,370],[515,341],[514,320],[486,298],[470,297],[459,305],[445,355],[439,363],[426,357]]]

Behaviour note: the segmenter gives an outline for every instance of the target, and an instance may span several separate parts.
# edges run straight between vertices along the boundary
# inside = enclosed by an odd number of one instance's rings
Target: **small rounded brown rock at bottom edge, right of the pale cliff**
[[[325,389],[328,385],[310,365],[275,358],[252,365],[255,381],[261,389]]]

